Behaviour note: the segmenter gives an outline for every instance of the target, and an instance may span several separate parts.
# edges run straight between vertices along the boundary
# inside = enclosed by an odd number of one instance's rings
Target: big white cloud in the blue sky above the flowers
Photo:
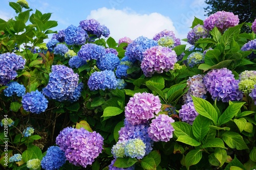
[[[91,11],[87,19],[91,18],[108,27],[110,36],[116,41],[125,36],[132,40],[139,36],[153,38],[164,29],[174,31],[176,36],[178,35],[173,21],[159,13],[138,14],[129,9],[116,10],[104,7]]]

